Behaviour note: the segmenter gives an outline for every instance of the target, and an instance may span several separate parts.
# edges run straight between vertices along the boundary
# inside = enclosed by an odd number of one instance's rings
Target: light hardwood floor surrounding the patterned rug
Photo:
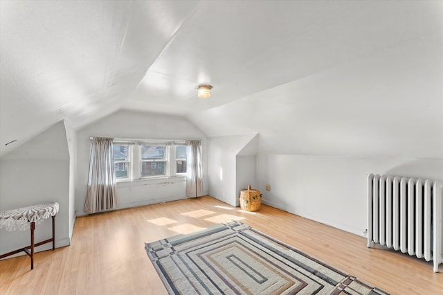
[[[443,266],[269,206],[249,213],[212,197],[78,217],[71,246],[0,261],[0,294],[166,294],[144,242],[240,220],[390,294],[443,294]]]

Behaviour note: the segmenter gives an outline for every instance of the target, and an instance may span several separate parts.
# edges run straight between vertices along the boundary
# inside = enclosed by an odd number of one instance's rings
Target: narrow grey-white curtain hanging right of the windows
[[[186,195],[201,197],[201,141],[186,141],[188,159],[186,160]]]

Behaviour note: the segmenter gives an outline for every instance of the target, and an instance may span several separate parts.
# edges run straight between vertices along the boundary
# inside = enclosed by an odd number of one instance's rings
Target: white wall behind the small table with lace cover
[[[58,202],[55,247],[70,244],[70,155],[64,122],[60,121],[0,160],[0,211]],[[35,242],[51,238],[51,219],[37,224]],[[28,246],[29,231],[0,230],[0,253]],[[51,249],[51,243],[37,251]]]

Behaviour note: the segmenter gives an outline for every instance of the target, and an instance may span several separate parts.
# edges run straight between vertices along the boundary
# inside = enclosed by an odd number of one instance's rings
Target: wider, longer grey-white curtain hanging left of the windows
[[[114,138],[93,138],[84,212],[96,213],[117,206],[114,175]]]

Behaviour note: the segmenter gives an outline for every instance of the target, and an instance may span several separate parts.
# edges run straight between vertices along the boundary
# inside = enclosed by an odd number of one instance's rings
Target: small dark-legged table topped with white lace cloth
[[[42,244],[53,242],[53,250],[55,249],[55,215],[58,213],[58,203],[48,202],[29,206],[24,208],[13,209],[9,211],[0,211],[0,229],[6,228],[6,231],[24,231],[30,229],[30,245],[9,253],[0,255],[0,259],[11,256],[13,254],[24,251],[30,257],[30,269],[34,269],[34,248]],[[43,220],[52,217],[53,219],[53,238],[42,242],[34,243],[35,223],[43,222]]]

